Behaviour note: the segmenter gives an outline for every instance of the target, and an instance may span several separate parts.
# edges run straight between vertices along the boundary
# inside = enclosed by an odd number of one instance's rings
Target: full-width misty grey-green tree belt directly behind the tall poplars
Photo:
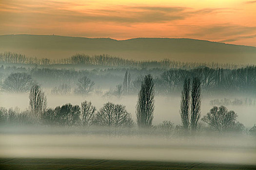
[[[19,69],[17,68],[17,71]],[[149,71],[154,74],[155,89],[158,94],[168,94],[180,91],[182,89],[183,82],[186,78],[192,79],[197,77],[201,82],[201,90],[207,93],[216,92],[241,92],[248,94],[255,94],[256,86],[256,67],[247,67],[239,69],[212,69],[212,68],[196,68],[196,69],[170,69],[170,70],[91,70],[91,71],[75,71],[71,69],[50,69],[50,68],[22,68],[21,73],[7,74],[4,71],[1,72],[2,76],[1,86],[2,89],[8,91],[17,92],[23,91],[23,86],[29,86],[33,84],[32,78],[43,85],[55,85],[67,84],[75,86],[79,81],[77,93],[80,93],[84,85],[88,84],[88,88],[84,89],[85,93],[91,91],[91,87],[94,83],[89,80],[98,82],[113,82],[113,85],[118,84],[118,94],[136,94],[140,89],[140,84],[143,76]],[[24,73],[26,72],[26,73]],[[121,80],[124,74],[123,80]],[[158,76],[160,75],[160,76]],[[87,79],[86,79],[87,78]],[[90,83],[91,82],[91,83]],[[87,85],[86,85],[87,86]],[[13,88],[13,89],[9,89]],[[56,89],[58,90],[58,89]],[[25,88],[28,91],[28,88]],[[87,92],[86,92],[87,91]]]

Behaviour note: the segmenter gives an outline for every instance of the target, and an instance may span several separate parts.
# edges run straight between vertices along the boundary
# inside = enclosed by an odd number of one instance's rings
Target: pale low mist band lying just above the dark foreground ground
[[[79,129],[8,130],[0,134],[0,157],[89,158],[256,164],[252,136],[176,136],[84,134]],[[28,134],[24,132],[29,131]],[[124,130],[125,131],[125,130]],[[12,133],[10,133],[12,132]],[[22,132],[22,133],[20,133]],[[34,132],[34,133],[33,133]],[[58,132],[58,133],[57,133]],[[114,131],[113,131],[114,132]]]

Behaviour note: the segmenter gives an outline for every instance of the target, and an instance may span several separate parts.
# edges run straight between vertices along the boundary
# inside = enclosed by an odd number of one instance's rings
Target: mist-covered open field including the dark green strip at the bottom
[[[192,168],[205,170],[214,167],[215,170],[253,170],[256,168],[255,138],[246,136],[167,139],[147,135],[4,133],[0,135],[0,151],[2,158],[0,169],[23,167],[24,169],[146,170],[148,167],[153,167],[152,169],[159,170]]]

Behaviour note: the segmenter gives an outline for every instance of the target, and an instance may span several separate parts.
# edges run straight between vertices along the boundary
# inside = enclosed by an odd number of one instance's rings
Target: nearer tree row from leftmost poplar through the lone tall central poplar
[[[86,89],[87,90],[87,89]],[[85,90],[84,90],[85,91]],[[137,123],[139,127],[152,126],[154,112],[154,82],[152,75],[146,75],[141,83],[137,103]],[[131,127],[134,122],[124,105],[107,102],[96,111],[91,102],[81,106],[65,104],[55,109],[47,109],[45,93],[39,85],[33,85],[29,94],[30,113],[37,123],[61,126],[91,126],[92,124],[113,127]]]

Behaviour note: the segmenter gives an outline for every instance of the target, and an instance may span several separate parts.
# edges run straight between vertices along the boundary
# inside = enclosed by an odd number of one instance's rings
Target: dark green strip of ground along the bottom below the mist
[[[0,170],[256,170],[256,165],[105,159],[0,158]]]

